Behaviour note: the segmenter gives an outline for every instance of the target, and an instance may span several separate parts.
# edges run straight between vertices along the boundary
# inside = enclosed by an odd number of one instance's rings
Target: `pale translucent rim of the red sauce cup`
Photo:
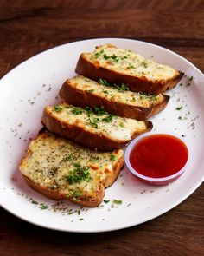
[[[186,148],[188,150],[188,159],[187,159],[185,165],[182,167],[182,169],[180,169],[175,174],[172,174],[172,175],[169,175],[169,176],[166,176],[166,177],[153,178],[153,177],[145,176],[143,174],[139,174],[137,172],[137,170],[135,170],[131,166],[130,154],[131,154],[132,148],[134,148],[139,141],[143,140],[143,138],[149,137],[151,135],[170,135],[170,136],[173,136],[173,137],[179,139],[180,141],[182,141],[184,143],[184,145],[186,146]],[[175,132],[169,132],[169,131],[149,131],[149,132],[146,132],[146,133],[144,133],[142,135],[137,136],[135,139],[133,139],[131,141],[130,144],[128,144],[128,146],[127,146],[127,148],[125,150],[125,153],[124,153],[124,162],[125,162],[125,165],[128,168],[128,170],[130,170],[132,174],[136,175],[138,178],[140,178],[140,179],[142,179],[144,181],[153,181],[153,182],[156,182],[156,181],[158,181],[158,182],[160,182],[160,181],[171,181],[171,180],[173,180],[175,178],[178,178],[185,171],[186,167],[188,166],[189,155],[190,154],[189,154],[189,149],[188,149],[188,143],[187,143],[185,137],[182,137],[181,135],[178,135]]]

